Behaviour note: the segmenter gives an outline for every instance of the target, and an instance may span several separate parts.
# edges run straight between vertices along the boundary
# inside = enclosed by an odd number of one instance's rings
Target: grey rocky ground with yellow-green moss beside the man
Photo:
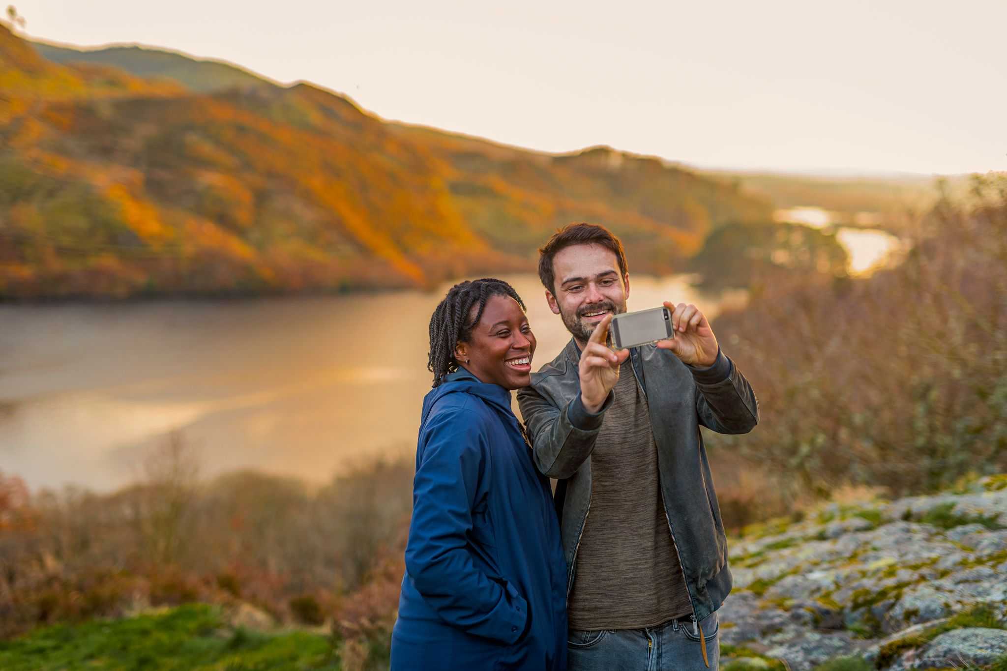
[[[730,671],[837,658],[837,669],[1007,669],[1007,475],[831,504],[729,544],[734,591],[720,634]]]

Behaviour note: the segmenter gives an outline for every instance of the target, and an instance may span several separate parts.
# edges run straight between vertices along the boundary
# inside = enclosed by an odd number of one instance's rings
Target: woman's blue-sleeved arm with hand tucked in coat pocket
[[[514,585],[476,567],[468,548],[487,448],[478,415],[469,410],[429,420],[413,480],[406,573],[445,622],[510,645],[525,631],[528,603]]]

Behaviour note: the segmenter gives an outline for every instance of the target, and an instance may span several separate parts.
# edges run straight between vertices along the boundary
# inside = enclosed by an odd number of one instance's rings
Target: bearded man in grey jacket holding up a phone
[[[559,480],[569,668],[715,669],[731,573],[699,427],[747,433],[755,396],[693,305],[665,303],[673,339],[605,346],[629,296],[607,229],[571,224],[540,251],[546,300],[573,338],[518,401],[536,466]]]

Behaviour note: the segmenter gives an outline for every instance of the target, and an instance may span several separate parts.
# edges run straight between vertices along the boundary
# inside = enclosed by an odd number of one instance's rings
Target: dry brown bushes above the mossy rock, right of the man
[[[900,495],[1004,471],[1007,176],[943,199],[897,267],[763,287],[714,326],[761,417],[748,436],[709,436],[713,461],[764,477],[777,513],[843,485]]]

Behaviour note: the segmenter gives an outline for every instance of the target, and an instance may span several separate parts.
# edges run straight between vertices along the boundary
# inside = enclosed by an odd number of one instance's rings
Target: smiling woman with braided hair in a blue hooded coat
[[[430,319],[393,671],[566,668],[559,523],[511,410],[534,353],[499,280],[455,285]]]

